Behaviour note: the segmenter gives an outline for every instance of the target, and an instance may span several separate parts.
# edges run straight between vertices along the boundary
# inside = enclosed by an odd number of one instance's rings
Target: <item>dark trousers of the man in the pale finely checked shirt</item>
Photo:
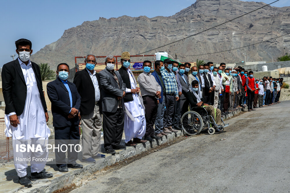
[[[154,96],[142,96],[145,107],[146,132],[144,138],[154,136],[154,122],[157,115],[157,99]],[[165,98],[163,98],[165,100]]]

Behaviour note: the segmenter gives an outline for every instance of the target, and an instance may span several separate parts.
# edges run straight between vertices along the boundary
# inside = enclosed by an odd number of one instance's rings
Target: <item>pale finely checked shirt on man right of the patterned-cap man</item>
[[[161,92],[160,85],[156,82],[156,79],[151,73],[143,72],[138,76],[138,82],[140,86],[141,95],[155,96],[157,91]]]

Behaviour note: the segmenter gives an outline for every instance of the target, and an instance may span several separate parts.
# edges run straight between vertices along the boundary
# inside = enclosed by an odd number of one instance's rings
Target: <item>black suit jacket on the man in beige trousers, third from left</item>
[[[99,100],[99,109],[102,110],[102,94],[101,94],[101,85],[100,85],[100,76],[98,73],[95,74],[99,84],[100,90],[100,100]],[[95,109],[95,87],[92,79],[87,71],[87,69],[83,69],[81,71],[77,71],[75,73],[75,78],[73,79],[73,83],[77,87],[77,91],[81,96],[81,106],[79,111],[81,115],[88,115]]]

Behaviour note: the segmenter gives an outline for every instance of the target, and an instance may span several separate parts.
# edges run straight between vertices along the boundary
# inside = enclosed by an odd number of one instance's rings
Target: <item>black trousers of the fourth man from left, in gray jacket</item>
[[[103,112],[104,148],[115,148],[120,145],[124,130],[124,110]]]

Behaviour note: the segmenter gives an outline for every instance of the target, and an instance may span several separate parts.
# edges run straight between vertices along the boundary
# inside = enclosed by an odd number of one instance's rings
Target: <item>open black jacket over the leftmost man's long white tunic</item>
[[[34,62],[31,62],[31,66],[35,74],[37,87],[40,94],[40,100],[44,108],[44,112],[47,112],[39,66]],[[2,92],[6,105],[5,114],[16,112],[16,115],[19,116],[24,111],[27,87],[18,58],[3,65],[1,76]]]

